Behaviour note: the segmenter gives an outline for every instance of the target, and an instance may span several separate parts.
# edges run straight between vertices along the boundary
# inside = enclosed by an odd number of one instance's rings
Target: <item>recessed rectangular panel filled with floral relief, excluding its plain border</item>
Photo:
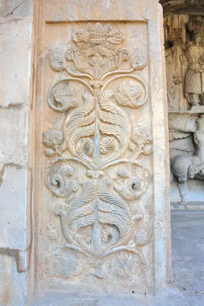
[[[47,23],[42,267],[49,288],[152,291],[146,22]]]

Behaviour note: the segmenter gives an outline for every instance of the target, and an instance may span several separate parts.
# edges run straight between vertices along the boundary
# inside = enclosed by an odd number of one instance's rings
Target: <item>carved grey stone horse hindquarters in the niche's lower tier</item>
[[[188,179],[204,180],[204,133],[196,131],[193,133],[195,146],[194,155],[180,154],[174,156],[170,161],[171,180],[176,177],[180,190],[182,202],[188,202],[187,196]]]

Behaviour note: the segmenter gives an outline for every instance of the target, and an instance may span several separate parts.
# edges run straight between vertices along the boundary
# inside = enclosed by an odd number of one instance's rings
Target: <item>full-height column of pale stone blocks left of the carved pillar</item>
[[[24,305],[32,240],[33,3],[1,1],[0,15],[0,304]]]

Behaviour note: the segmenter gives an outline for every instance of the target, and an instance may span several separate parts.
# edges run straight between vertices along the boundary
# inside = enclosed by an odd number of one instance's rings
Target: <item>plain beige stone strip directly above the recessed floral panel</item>
[[[108,1],[98,0],[59,1],[46,0],[44,19],[49,22],[78,21],[78,20],[147,20],[150,1]],[[94,8],[94,9],[93,9]]]

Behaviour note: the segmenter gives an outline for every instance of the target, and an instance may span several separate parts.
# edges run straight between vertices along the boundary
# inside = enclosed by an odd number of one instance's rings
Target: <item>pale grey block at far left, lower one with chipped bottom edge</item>
[[[5,166],[0,189],[2,215],[0,248],[27,249],[27,169]],[[20,182],[20,184],[19,184]],[[30,223],[30,220],[29,220]]]

